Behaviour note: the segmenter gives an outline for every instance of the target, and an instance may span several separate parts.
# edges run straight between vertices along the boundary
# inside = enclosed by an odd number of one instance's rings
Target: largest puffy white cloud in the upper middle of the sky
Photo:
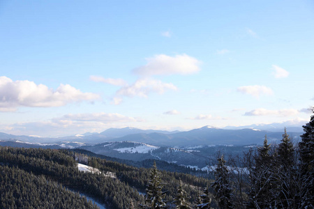
[[[147,64],[135,68],[133,72],[137,75],[188,75],[200,70],[200,61],[186,54],[167,56],[158,54],[147,59]]]

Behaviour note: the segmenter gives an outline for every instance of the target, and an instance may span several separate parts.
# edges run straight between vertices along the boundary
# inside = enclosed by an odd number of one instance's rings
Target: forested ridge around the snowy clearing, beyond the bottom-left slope
[[[106,208],[127,208],[131,201],[137,208],[139,203],[143,203],[144,198],[137,190],[144,192],[150,169],[88,157],[90,166],[100,169],[103,173],[113,172],[117,176],[110,178],[102,174],[78,171],[74,157],[80,158],[81,161],[87,159],[87,156],[78,157],[69,150],[0,147],[0,164],[19,167],[27,173],[32,172],[36,176],[45,176],[47,180],[62,183],[75,191],[94,197],[96,201],[104,203]],[[169,191],[165,196],[167,202],[173,201],[172,195],[177,191],[179,178],[193,198],[199,194],[202,185],[210,183],[207,179],[184,173],[159,172],[163,182],[167,183],[165,185],[165,190]]]

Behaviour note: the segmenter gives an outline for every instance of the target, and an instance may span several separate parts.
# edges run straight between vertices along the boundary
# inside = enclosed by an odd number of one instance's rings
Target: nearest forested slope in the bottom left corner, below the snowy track
[[[0,165],[0,208],[98,208],[44,176]]]

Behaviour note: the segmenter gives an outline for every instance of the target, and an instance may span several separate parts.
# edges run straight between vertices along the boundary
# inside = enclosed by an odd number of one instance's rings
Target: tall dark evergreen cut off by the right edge
[[[314,113],[314,107],[312,107]],[[304,134],[299,142],[301,175],[301,208],[314,208],[314,115],[303,126]]]

